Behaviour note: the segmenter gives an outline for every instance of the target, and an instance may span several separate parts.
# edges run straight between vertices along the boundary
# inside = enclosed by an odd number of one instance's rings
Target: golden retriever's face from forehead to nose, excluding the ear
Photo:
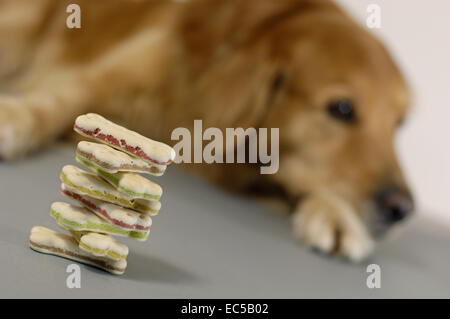
[[[342,196],[378,236],[413,209],[394,150],[405,81],[385,48],[339,10],[294,15],[278,28],[279,71],[263,124],[280,127],[276,178],[294,193]]]

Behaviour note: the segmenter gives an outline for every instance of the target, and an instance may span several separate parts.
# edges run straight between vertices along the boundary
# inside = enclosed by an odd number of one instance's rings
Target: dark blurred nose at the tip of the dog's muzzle
[[[387,186],[375,193],[375,203],[385,222],[396,223],[407,218],[414,209],[411,195],[395,186]]]

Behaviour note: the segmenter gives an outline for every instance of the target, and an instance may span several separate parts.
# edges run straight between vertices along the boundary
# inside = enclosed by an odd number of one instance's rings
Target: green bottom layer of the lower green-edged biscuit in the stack
[[[146,239],[148,237],[149,232],[137,232],[137,231],[127,231],[122,230],[118,227],[115,227],[114,225],[109,224],[95,224],[90,221],[88,221],[86,224],[78,224],[74,221],[65,219],[61,216],[60,213],[54,211],[53,209],[50,210],[50,215],[55,218],[57,221],[61,222],[63,225],[77,231],[84,231],[84,230],[90,230],[90,231],[100,231],[100,232],[106,232],[113,235],[121,235],[126,236],[130,238],[135,239]]]

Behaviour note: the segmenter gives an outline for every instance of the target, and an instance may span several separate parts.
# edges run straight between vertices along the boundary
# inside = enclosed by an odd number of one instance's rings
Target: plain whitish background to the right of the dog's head
[[[366,25],[381,7],[381,38],[414,93],[397,139],[421,213],[450,224],[450,0],[336,0]]]

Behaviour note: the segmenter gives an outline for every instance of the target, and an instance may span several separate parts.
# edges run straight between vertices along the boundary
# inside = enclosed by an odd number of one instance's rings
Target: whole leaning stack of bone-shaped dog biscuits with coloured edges
[[[151,216],[161,208],[162,188],[140,173],[163,175],[175,151],[97,114],[79,116],[74,130],[102,144],[78,143],[76,161],[89,171],[62,168],[61,193],[79,205],[54,202],[50,216],[70,235],[35,226],[29,244],[36,251],[120,275],[128,247],[112,236],[147,240]]]

